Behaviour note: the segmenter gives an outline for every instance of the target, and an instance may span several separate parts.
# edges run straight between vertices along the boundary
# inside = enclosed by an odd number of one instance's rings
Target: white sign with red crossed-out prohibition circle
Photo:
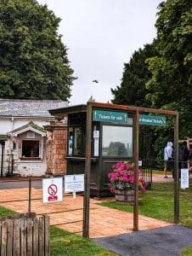
[[[63,177],[48,177],[42,179],[42,202],[63,201]]]

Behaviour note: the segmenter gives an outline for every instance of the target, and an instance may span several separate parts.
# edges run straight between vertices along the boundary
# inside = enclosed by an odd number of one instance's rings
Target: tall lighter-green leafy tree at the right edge
[[[180,137],[192,131],[192,2],[167,0],[159,6],[156,50],[147,99],[154,108],[178,110]]]

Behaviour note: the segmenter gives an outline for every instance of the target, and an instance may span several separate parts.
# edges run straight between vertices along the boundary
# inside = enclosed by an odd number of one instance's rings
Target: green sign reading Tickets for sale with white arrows
[[[93,121],[110,122],[110,123],[127,123],[127,113],[94,110]]]

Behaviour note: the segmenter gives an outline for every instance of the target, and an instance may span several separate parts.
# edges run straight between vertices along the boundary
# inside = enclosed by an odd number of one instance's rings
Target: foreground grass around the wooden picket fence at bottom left
[[[0,207],[0,218],[14,215],[15,212],[10,211],[4,207]],[[114,256],[116,254],[110,253],[103,247],[97,246],[93,241],[84,239],[82,236],[77,236],[60,230],[56,227],[50,229],[50,244],[51,256]]]

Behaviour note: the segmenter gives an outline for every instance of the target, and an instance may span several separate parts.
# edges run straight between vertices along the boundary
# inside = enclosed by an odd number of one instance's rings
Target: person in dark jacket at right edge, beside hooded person
[[[184,141],[178,148],[178,164],[179,169],[187,169],[189,160],[189,148],[187,142]]]

